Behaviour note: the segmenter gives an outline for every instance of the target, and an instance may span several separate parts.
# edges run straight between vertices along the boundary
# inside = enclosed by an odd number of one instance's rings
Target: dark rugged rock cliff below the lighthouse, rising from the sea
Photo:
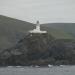
[[[15,47],[0,52],[0,65],[75,64],[75,42],[49,34],[27,34]]]

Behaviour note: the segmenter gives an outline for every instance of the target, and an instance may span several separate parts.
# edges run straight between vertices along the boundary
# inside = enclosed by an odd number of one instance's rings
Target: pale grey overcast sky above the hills
[[[75,0],[0,0],[0,15],[32,23],[75,23]]]

